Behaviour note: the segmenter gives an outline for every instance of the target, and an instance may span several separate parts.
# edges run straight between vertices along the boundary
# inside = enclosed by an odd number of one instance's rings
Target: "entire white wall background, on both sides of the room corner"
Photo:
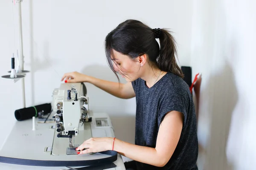
[[[123,20],[142,20],[152,28],[171,28],[180,65],[191,65],[193,75],[203,75],[198,120],[200,170],[256,167],[255,1],[166,0],[161,7],[155,1],[23,1],[25,68],[32,71],[25,78],[27,107],[50,102],[52,90],[65,72],[80,71],[116,81],[105,60],[104,38]],[[0,73],[4,75],[13,51],[19,49],[17,29],[14,48],[10,0],[0,1],[0,23]],[[116,136],[133,143],[135,100],[117,99],[86,85],[90,107],[109,113]],[[22,107],[20,88],[20,81],[0,79],[0,129],[6,133],[16,121],[14,111]],[[0,136],[0,145],[5,137]]]

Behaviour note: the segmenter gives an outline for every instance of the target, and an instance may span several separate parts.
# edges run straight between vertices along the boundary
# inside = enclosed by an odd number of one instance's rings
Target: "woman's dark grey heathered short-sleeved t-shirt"
[[[135,144],[155,147],[157,133],[164,116],[169,111],[184,115],[180,140],[171,159],[164,167],[154,167],[141,162],[138,170],[198,170],[198,138],[194,103],[189,86],[172,73],[164,75],[148,88],[143,79],[132,82],[136,94]]]

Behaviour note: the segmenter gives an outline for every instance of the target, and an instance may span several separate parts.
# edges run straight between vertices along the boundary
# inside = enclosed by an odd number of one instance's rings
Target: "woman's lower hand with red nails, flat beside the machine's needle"
[[[104,138],[90,138],[84,141],[76,150],[79,150],[78,154],[84,153],[96,153],[106,150],[112,150],[113,138],[104,137]],[[85,149],[85,150],[84,150]]]

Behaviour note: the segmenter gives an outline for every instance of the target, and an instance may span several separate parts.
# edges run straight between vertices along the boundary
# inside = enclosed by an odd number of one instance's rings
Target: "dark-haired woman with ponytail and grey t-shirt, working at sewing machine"
[[[88,148],[79,154],[115,150],[133,159],[129,164],[134,163],[137,170],[197,170],[194,104],[175,60],[172,35],[165,29],[126,20],[107,35],[105,51],[111,69],[122,75],[126,84],[78,72],[64,74],[61,81],[89,82],[122,99],[136,97],[135,144],[92,138],[77,148]]]

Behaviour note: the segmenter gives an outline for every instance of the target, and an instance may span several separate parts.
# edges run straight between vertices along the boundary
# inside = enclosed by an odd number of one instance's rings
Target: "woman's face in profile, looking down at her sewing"
[[[132,82],[140,77],[140,62],[136,59],[131,59],[113,50],[112,60],[115,71],[124,77],[127,82]]]

